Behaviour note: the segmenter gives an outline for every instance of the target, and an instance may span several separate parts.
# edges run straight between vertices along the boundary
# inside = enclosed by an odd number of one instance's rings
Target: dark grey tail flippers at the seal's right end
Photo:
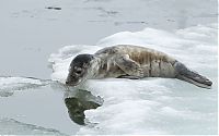
[[[177,73],[176,78],[192,83],[198,87],[208,88],[208,89],[211,88],[211,85],[212,85],[211,81],[187,69],[183,63],[175,62],[174,66]]]

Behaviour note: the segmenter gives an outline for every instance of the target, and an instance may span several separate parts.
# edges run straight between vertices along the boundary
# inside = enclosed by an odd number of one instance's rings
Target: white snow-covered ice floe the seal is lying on
[[[78,135],[217,134],[217,24],[208,24],[172,33],[154,28],[120,32],[101,39],[96,46],[68,46],[53,53],[51,79],[59,82],[65,82],[77,54],[128,44],[165,52],[214,83],[211,89],[203,89],[170,78],[90,79],[79,88],[101,96],[104,103],[85,111],[85,118],[96,125],[81,127]]]

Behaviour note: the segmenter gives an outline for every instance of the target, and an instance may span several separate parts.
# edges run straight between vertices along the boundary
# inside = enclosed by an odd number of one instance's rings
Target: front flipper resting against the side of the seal
[[[143,72],[140,64],[129,58],[128,54],[115,58],[115,63],[128,75],[135,78],[142,78]]]

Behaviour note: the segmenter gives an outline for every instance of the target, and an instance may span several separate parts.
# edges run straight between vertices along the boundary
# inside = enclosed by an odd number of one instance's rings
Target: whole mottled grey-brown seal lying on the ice
[[[165,77],[182,79],[203,88],[210,88],[212,85],[207,77],[166,53],[130,45],[106,47],[94,54],[77,55],[70,64],[66,84],[76,86],[85,79],[107,77]]]

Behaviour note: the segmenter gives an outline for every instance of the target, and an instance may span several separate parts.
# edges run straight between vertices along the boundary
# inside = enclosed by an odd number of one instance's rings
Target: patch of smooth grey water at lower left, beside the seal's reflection
[[[35,134],[35,128],[28,124],[43,127],[45,131],[53,128],[64,134],[72,134],[79,126],[73,124],[67,114],[62,100],[64,94],[54,91],[50,87],[19,91],[13,97],[1,98],[1,121],[13,119],[20,123],[11,126],[1,124],[1,134]],[[23,131],[21,124],[26,124]],[[12,128],[11,132],[7,132]],[[38,129],[39,132],[42,128]],[[53,134],[53,133],[51,133]]]

